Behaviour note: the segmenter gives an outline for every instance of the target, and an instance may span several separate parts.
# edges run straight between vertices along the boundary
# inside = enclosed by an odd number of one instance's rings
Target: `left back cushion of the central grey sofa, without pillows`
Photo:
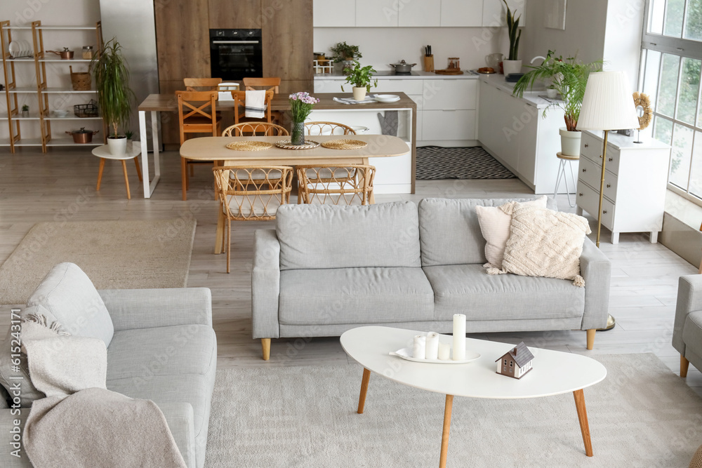
[[[421,266],[419,218],[411,201],[283,205],[275,230],[282,270]]]

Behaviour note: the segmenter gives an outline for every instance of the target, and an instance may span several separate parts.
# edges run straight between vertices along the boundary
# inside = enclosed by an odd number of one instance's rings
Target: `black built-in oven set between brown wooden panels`
[[[213,78],[241,80],[263,76],[260,29],[210,29],[210,62]]]

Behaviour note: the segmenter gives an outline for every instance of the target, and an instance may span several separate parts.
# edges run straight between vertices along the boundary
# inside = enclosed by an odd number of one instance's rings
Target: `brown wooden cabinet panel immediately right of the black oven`
[[[263,76],[309,80],[312,89],[312,0],[262,0]],[[282,91],[282,90],[281,90]]]

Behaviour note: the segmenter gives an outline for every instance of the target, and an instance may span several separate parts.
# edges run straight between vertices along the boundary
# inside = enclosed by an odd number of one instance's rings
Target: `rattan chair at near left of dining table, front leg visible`
[[[227,221],[227,273],[230,272],[232,221],[274,220],[279,206],[289,203],[293,168],[288,166],[220,166],[212,169],[220,201],[217,230]]]

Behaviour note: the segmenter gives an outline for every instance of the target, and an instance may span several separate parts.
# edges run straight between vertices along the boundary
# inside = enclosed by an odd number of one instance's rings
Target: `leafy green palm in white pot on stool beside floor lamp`
[[[563,109],[566,126],[559,131],[561,152],[568,156],[579,156],[581,133],[577,127],[583,95],[585,95],[585,86],[588,84],[590,72],[602,69],[602,60],[582,63],[574,57],[564,59],[562,56],[556,58],[554,55],[555,51],[548,51],[546,60],[541,65],[538,67],[529,66],[531,70],[517,81],[512,94],[521,98],[524,91],[527,91],[527,88],[532,88],[537,80],[552,80],[549,87],[561,95],[561,100],[551,102],[543,109],[543,114],[545,115],[551,107]]]

